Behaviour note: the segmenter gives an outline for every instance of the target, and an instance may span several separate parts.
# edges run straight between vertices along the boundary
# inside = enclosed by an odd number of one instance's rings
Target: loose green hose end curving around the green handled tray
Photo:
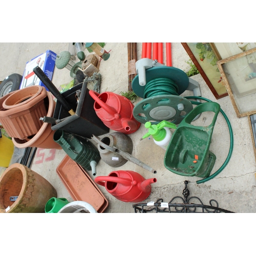
[[[200,99],[200,100],[205,100],[205,101],[208,101],[208,102],[211,102],[211,100],[209,99],[206,99],[206,98],[203,98],[203,97],[198,97],[198,96],[187,96],[187,97],[184,97],[186,99]],[[198,102],[198,101],[192,101],[190,100],[190,102],[192,104],[195,104],[195,105],[199,105],[199,104],[202,104],[203,102]],[[221,109],[220,110],[221,114],[224,116],[226,122],[227,122],[227,125],[228,125],[228,130],[229,130],[229,135],[230,135],[230,147],[229,147],[229,152],[228,152],[228,155],[227,155],[227,158],[226,160],[224,161],[224,163],[222,164],[222,166],[212,175],[210,175],[209,177],[205,178],[205,179],[202,179],[202,180],[198,180],[197,181],[197,184],[200,184],[200,183],[203,183],[203,182],[206,182],[208,180],[211,180],[212,178],[216,177],[218,174],[221,173],[221,171],[226,167],[226,165],[228,164],[230,158],[231,158],[231,155],[232,155],[232,151],[233,151],[233,131],[232,131],[232,127],[231,127],[231,124],[226,116],[226,114],[224,113],[224,111]]]

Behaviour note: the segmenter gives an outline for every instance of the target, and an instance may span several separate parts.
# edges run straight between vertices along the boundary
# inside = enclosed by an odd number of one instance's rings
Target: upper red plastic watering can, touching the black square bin
[[[133,116],[133,103],[121,96],[112,92],[97,92],[90,90],[89,94],[95,100],[94,110],[101,121],[110,129],[131,134],[136,132],[140,127]]]

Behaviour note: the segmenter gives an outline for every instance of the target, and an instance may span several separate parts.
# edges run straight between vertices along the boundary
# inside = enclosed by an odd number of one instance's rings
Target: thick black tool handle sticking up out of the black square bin
[[[67,100],[62,96],[59,90],[54,86],[52,81],[47,77],[44,71],[40,69],[40,67],[35,67],[33,69],[34,73],[38,76],[38,78],[45,84],[48,90],[52,93],[52,95],[61,103],[61,105],[70,113],[70,115],[74,115],[75,112],[71,108],[70,104]]]

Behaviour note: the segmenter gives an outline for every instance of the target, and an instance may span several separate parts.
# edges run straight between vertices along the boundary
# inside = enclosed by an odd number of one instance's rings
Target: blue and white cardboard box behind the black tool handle
[[[47,50],[45,53],[42,53],[41,55],[38,55],[37,57],[28,61],[26,63],[26,68],[19,89],[39,85],[44,86],[46,90],[49,91],[45,84],[42,83],[37,75],[33,72],[33,69],[39,66],[40,69],[45,72],[47,77],[52,80],[56,56],[56,53],[52,52],[51,50]]]

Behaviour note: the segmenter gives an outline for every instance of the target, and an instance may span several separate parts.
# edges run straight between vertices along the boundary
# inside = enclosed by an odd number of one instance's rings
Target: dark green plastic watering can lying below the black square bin
[[[96,164],[100,160],[98,149],[86,138],[57,130],[53,140],[58,143],[71,159],[96,175]]]

